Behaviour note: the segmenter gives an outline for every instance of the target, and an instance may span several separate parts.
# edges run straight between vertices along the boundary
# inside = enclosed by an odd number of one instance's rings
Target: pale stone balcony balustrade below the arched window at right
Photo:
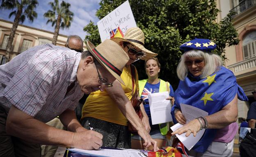
[[[256,67],[256,56],[228,66],[234,73]]]

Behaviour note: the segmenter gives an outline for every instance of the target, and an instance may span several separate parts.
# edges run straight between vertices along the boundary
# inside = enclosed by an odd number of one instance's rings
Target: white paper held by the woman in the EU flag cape
[[[181,106],[181,111],[182,114],[184,115],[184,117],[187,120],[187,123],[190,122],[191,120],[197,118],[197,117],[205,117],[208,115],[208,113],[206,111],[203,111],[197,107],[194,106],[190,106],[187,104],[180,104]],[[183,125],[177,123],[174,126],[171,127],[171,130],[175,131],[178,128],[181,128]],[[186,137],[186,133],[183,133],[181,135],[176,134],[176,136],[178,137],[178,139],[184,144],[184,146],[190,150],[198,141],[199,139],[201,139],[201,137],[203,136],[203,133],[205,132],[205,129],[200,130],[196,137],[194,137],[194,135],[191,133],[188,137]]]

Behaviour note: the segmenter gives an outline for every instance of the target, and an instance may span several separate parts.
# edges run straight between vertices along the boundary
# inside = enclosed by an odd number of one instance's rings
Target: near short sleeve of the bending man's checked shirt
[[[58,67],[47,54],[23,62],[5,88],[5,97],[21,111],[34,116],[45,104],[57,79]]]

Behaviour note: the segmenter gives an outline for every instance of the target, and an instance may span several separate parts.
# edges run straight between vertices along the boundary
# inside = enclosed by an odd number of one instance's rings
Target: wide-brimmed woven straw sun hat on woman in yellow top
[[[144,33],[138,27],[127,29],[123,38],[117,37],[117,38],[111,38],[110,40],[113,40],[118,44],[121,41],[129,42],[130,44],[133,44],[134,46],[138,47],[144,53],[144,55],[139,58],[141,60],[148,60],[158,55],[157,53],[153,53],[144,47],[144,40],[145,40]]]

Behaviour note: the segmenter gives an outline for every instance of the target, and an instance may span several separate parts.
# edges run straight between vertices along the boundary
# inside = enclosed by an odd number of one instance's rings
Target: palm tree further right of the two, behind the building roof
[[[59,6],[59,0],[54,0],[54,2],[49,2],[48,4],[50,4],[53,10],[48,10],[43,16],[48,18],[46,24],[52,22],[52,27],[55,25],[53,44],[56,45],[59,27],[62,29],[69,28],[74,14],[69,10],[70,4],[67,2],[62,1]]]

